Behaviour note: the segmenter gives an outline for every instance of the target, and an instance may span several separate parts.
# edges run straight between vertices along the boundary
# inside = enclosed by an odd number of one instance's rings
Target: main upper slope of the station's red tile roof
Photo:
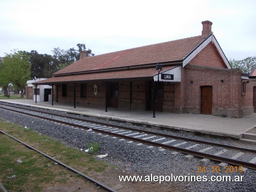
[[[182,61],[205,38],[200,36],[168,41],[86,57],[55,72],[53,76],[77,72],[127,68],[132,66]],[[95,75],[94,75],[95,76]]]

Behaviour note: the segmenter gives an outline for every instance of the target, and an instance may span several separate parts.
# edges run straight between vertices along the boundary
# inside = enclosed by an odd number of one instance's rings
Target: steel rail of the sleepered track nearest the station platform
[[[210,142],[210,141],[202,141],[202,140],[197,140],[197,139],[192,139],[192,138],[184,138],[184,137],[179,137],[179,136],[172,136],[172,135],[169,135],[169,134],[157,133],[157,132],[154,132],[154,131],[140,130],[140,129],[132,128],[132,127],[118,126],[118,125],[108,124],[108,123],[100,123],[98,121],[85,120],[85,119],[76,118],[76,117],[68,117],[68,116],[54,114],[54,113],[50,113],[50,112],[41,112],[41,111],[38,111],[38,110],[27,109],[27,108],[24,108],[24,107],[18,107],[18,106],[12,106],[12,105],[7,105],[7,106],[17,107],[17,108],[20,108],[20,109],[30,110],[30,111],[39,112],[39,113],[56,115],[56,116],[59,116],[59,117],[65,117],[65,118],[79,120],[79,121],[86,121],[86,122],[89,122],[89,123],[98,123],[98,124],[104,125],[104,126],[115,126],[117,128],[121,128],[121,129],[126,129],[126,130],[130,130],[130,131],[146,133],[146,134],[151,134],[151,135],[156,135],[156,136],[160,136],[160,137],[173,138],[173,139],[183,140],[183,141],[191,141],[191,142],[195,142],[195,143],[199,143],[199,144],[212,145],[212,146],[223,147],[223,148],[228,148],[228,149],[237,150],[237,151],[251,152],[251,153],[256,154],[256,150],[250,149],[250,148],[243,148],[243,147],[238,147],[238,146],[233,146],[233,145],[226,145],[226,144],[221,144],[221,143],[213,143],[213,142]],[[0,107],[0,108],[4,108],[4,107]],[[6,109],[6,108],[4,108],[4,109]],[[10,110],[10,109],[8,109],[8,110]],[[61,122],[63,122],[63,121],[61,121]]]

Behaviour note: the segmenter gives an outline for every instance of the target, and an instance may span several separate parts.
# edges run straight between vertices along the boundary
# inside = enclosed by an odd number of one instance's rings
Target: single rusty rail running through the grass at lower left
[[[49,158],[50,160],[57,162],[57,163],[60,164],[62,167],[65,167],[65,168],[69,169],[70,171],[72,171],[72,172],[74,172],[74,173],[76,173],[76,174],[79,174],[79,175],[83,176],[83,178],[88,179],[89,181],[91,181],[91,182],[93,182],[93,183],[99,185],[100,187],[106,189],[107,191],[110,191],[110,192],[117,192],[115,189],[112,189],[112,188],[110,188],[109,186],[107,186],[107,185],[105,185],[105,184],[103,184],[103,183],[101,183],[101,182],[99,182],[99,181],[93,179],[92,177],[90,177],[90,176],[88,176],[88,175],[85,175],[85,174],[83,174],[82,172],[80,172],[80,171],[78,171],[78,170],[76,170],[76,169],[74,169],[74,168],[72,168],[72,167],[66,165],[65,163],[63,163],[63,162],[61,162],[61,161],[59,161],[59,160],[56,160],[55,158],[51,157],[50,155],[47,155],[47,154],[45,154],[44,152],[37,150],[36,148],[34,148],[34,147],[32,147],[32,146],[30,146],[30,145],[24,143],[23,141],[18,140],[17,138],[15,138],[15,137],[9,135],[8,133],[5,133],[5,132],[2,131],[2,130],[0,130],[0,133],[7,135],[8,137],[12,138],[13,140],[16,140],[16,141],[18,141],[19,143],[25,145],[27,148],[30,148],[31,150],[34,150],[34,151],[36,151],[36,152],[38,152],[38,153],[44,155],[45,157]]]

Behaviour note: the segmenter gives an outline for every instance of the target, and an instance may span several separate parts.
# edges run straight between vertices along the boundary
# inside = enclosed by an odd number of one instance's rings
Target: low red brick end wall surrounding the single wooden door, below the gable
[[[212,115],[242,117],[252,113],[252,84],[242,96],[239,69],[214,68],[188,64],[185,67],[184,113],[201,113],[201,86],[212,86]],[[250,85],[249,85],[250,84]]]

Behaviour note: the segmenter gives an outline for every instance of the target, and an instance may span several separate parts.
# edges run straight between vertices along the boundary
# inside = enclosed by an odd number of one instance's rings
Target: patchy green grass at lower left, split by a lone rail
[[[96,161],[89,154],[67,147],[31,129],[3,120],[0,120],[0,129],[84,174],[107,169],[105,162]],[[75,175],[4,134],[0,134],[0,154],[0,182],[7,191],[42,191],[52,183],[68,182],[70,175]],[[17,160],[22,162],[18,163]],[[13,175],[15,178],[11,178]],[[79,178],[78,175],[76,177]]]

